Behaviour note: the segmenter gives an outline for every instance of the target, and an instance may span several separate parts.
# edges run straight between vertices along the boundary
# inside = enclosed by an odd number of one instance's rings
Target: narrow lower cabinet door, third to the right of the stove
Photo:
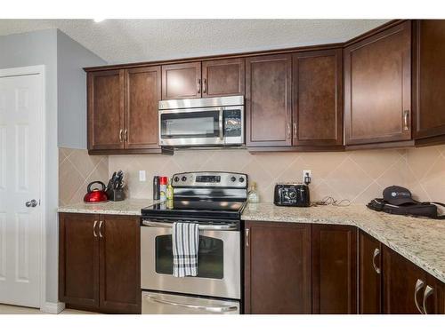
[[[382,313],[382,245],[359,233],[359,313]]]

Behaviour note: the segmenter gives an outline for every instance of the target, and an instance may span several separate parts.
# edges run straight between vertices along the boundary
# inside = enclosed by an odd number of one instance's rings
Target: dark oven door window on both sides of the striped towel
[[[156,237],[155,243],[156,273],[173,274],[172,235]],[[223,241],[217,238],[199,236],[198,277],[223,279]]]

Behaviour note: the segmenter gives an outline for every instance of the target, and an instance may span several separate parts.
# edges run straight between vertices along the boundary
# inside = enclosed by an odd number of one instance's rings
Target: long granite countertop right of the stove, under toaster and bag
[[[277,207],[271,202],[248,204],[243,220],[358,226],[387,247],[445,283],[445,220],[409,218],[348,207]]]

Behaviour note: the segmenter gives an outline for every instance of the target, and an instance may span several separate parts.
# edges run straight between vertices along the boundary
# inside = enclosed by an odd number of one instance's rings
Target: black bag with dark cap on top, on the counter
[[[445,215],[438,215],[437,205],[445,207],[445,204],[441,202],[417,202],[411,197],[408,189],[401,186],[389,186],[384,189],[383,199],[373,199],[367,207],[370,210],[384,211],[389,214],[445,219]]]

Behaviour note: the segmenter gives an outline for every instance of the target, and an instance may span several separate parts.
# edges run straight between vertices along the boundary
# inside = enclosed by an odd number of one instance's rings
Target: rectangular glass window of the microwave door
[[[163,139],[214,138],[219,136],[219,112],[161,114]]]

